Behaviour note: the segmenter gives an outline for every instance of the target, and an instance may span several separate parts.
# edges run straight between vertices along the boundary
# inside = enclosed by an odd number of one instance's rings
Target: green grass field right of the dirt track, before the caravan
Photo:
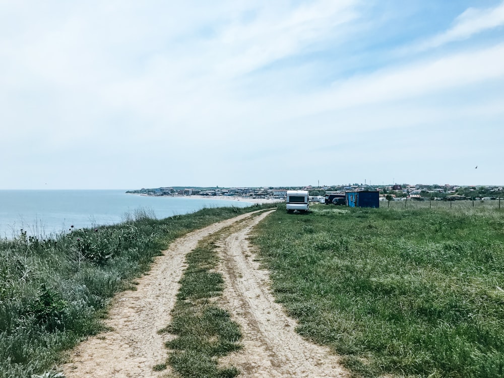
[[[298,332],[356,376],[504,375],[504,211],[282,205],[254,243]],[[493,205],[493,204],[492,204]]]

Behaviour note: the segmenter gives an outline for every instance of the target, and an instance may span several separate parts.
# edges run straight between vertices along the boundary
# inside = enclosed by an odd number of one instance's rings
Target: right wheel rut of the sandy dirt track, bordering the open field
[[[348,374],[328,348],[307,342],[295,331],[269,290],[269,275],[260,269],[247,235],[268,214],[250,218],[221,242],[220,271],[226,288],[222,306],[241,327],[243,349],[223,358],[246,377],[344,377]]]

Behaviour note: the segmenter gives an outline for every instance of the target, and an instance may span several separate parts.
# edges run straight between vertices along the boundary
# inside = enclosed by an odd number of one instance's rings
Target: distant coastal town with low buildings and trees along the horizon
[[[246,199],[285,199],[287,190],[306,190],[310,196],[325,196],[328,192],[377,191],[381,199],[405,200],[495,200],[504,197],[504,186],[459,186],[436,184],[390,184],[367,185],[348,184],[331,186],[289,186],[289,187],[158,187],[127,191],[144,196],[229,196]]]

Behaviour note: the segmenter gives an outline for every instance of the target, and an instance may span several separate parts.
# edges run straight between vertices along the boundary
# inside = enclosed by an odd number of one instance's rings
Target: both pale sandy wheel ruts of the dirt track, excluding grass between
[[[150,272],[138,280],[137,290],[114,299],[106,319],[110,331],[89,338],[72,353],[62,368],[68,378],[163,377],[170,368],[155,371],[165,363],[170,335],[158,331],[171,321],[185,255],[199,240],[219,234],[219,271],[225,280],[217,301],[231,313],[242,331],[243,348],[222,358],[246,377],[346,376],[338,358],[329,350],[303,340],[282,306],[269,291],[268,272],[260,269],[247,235],[270,212],[247,213],[214,223],[173,241],[156,258]]]

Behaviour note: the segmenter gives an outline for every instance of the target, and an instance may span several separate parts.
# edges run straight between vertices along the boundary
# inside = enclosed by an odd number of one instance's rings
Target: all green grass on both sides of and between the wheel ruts
[[[280,204],[259,225],[253,242],[272,271],[275,295],[299,321],[297,331],[341,354],[355,376],[503,376],[504,211],[497,201],[387,205],[318,205],[301,215]],[[48,370],[62,351],[99,332],[109,298],[133,288],[176,237],[259,209],[205,209],[165,220],[137,212],[119,225],[52,239],[21,232],[0,240],[0,377]],[[210,366],[212,355],[237,347],[239,329],[202,294],[220,290],[221,278],[211,272],[213,240],[188,263],[194,268],[170,325],[179,339],[169,345],[169,362],[191,367],[183,354],[189,340],[203,346],[198,353],[212,352]],[[210,289],[195,291],[191,282],[207,278]],[[209,330],[186,327],[191,306]],[[219,344],[210,332],[222,330]],[[202,335],[212,343],[191,341]]]

